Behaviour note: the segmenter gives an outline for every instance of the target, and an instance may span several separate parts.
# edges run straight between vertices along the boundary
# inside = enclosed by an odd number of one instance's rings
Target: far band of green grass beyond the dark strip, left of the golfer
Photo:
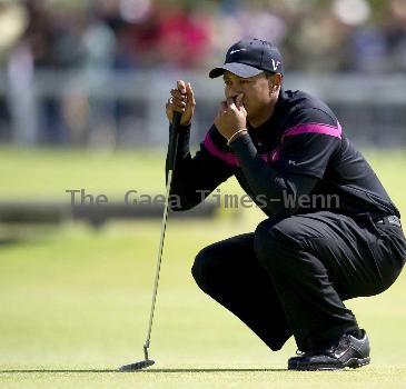
[[[80,188],[111,199],[130,189],[158,192],[165,179],[164,158],[164,150],[0,148],[0,198],[69,201],[66,190]]]

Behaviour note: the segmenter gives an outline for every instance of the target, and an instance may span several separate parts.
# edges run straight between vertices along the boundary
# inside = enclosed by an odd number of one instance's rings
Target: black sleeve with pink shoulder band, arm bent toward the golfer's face
[[[256,196],[261,197],[268,213],[275,217],[297,211],[297,199],[311,193],[340,144],[337,122],[330,122],[333,119],[319,111],[304,113],[296,117],[294,126],[285,131],[274,164],[259,158],[249,134],[231,143],[249,186]],[[303,117],[310,120],[303,120]],[[295,201],[287,202],[287,198]]]

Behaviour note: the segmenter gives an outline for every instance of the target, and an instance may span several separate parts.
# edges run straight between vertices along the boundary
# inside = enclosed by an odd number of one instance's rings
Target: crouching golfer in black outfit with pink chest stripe
[[[283,74],[269,42],[234,44],[209,73],[222,77],[226,100],[195,157],[194,92],[177,82],[166,107],[169,121],[182,113],[171,194],[187,210],[235,176],[268,218],[202,249],[196,282],[270,349],[293,335],[300,352],[289,369],[358,368],[369,363],[368,336],[343,301],[380,293],[399,276],[400,215],[331,110],[284,90]]]

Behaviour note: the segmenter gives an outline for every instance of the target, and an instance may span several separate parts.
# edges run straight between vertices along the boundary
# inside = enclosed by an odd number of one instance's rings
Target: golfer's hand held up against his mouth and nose
[[[247,128],[247,111],[242,106],[244,94],[237,96],[236,102],[231,98],[222,101],[215,119],[218,131],[229,140],[237,131]]]

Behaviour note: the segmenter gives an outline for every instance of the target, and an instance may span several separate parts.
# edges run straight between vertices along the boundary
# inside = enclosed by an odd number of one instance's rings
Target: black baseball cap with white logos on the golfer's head
[[[226,70],[242,78],[254,77],[263,71],[284,74],[278,48],[257,38],[242,39],[232,44],[227,51],[225,63],[211,69],[209,77],[220,77]]]

